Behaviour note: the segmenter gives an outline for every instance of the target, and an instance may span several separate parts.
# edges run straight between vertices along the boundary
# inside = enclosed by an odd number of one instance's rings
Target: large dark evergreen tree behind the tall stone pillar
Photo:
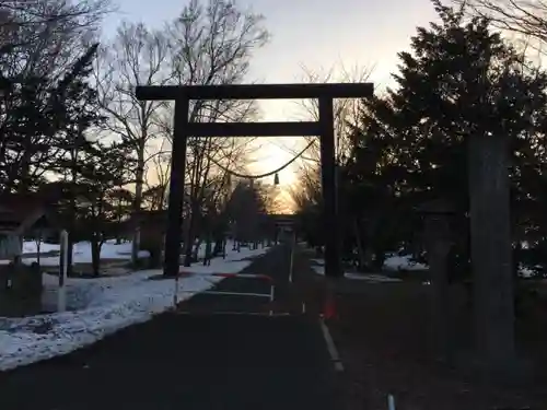
[[[385,198],[380,188],[387,197],[406,197],[407,204],[444,198],[465,219],[467,139],[505,134],[515,219],[522,221],[522,201],[538,195],[543,180],[547,77],[489,31],[488,20],[464,23],[461,13],[435,7],[442,23],[418,28],[412,51],[399,54],[398,86],[363,106],[353,141],[353,189],[363,201]],[[357,188],[363,184],[369,188]]]

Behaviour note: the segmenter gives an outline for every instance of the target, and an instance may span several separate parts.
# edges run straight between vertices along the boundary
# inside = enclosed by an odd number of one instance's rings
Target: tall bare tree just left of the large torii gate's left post
[[[107,131],[128,142],[137,160],[133,212],[142,204],[142,191],[151,141],[161,137],[156,113],[162,102],[139,101],[138,85],[162,85],[170,78],[168,44],[162,32],[149,31],[142,23],[124,22],[112,42],[102,48],[95,68],[100,103],[108,116]],[[140,238],[136,226],[131,259],[137,260]]]

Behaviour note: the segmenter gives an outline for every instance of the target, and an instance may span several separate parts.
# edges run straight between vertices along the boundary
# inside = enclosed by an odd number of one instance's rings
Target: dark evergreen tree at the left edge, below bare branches
[[[63,172],[75,137],[96,125],[95,93],[85,82],[93,46],[57,82],[47,75],[0,73],[0,190],[26,191]],[[9,51],[0,59],[10,58]],[[11,75],[10,75],[11,74]]]

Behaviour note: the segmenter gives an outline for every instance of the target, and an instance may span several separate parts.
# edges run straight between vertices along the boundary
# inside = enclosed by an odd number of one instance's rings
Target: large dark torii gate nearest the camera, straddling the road
[[[336,195],[336,157],[334,134],[334,98],[364,98],[373,95],[372,83],[342,84],[253,84],[253,85],[172,85],[137,86],[140,101],[175,101],[173,153],[168,198],[168,226],[165,237],[165,276],[178,273],[181,226],[188,137],[301,137],[319,136],[324,202],[325,274],[341,274],[338,206]],[[305,99],[317,98],[318,121],[302,122],[189,122],[190,99]]]

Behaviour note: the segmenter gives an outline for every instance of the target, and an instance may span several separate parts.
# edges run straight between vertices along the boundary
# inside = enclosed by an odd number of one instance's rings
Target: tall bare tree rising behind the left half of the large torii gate
[[[181,16],[167,25],[173,78],[179,85],[213,85],[241,82],[248,71],[252,54],[264,46],[268,33],[260,15],[241,11],[231,0],[191,0]],[[256,114],[254,102],[198,101],[190,105],[190,121],[243,121]],[[171,115],[164,116],[166,134],[172,134]],[[240,163],[249,150],[248,139],[190,138],[188,140],[187,197],[190,221],[185,235],[186,263],[210,180],[224,167]],[[219,168],[220,165],[220,168]]]

